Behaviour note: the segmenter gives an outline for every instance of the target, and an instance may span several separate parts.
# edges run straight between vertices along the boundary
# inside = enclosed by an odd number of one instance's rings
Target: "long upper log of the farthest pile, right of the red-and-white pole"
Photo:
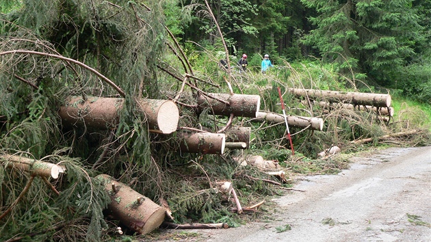
[[[336,92],[311,89],[289,88],[296,96],[308,96],[311,99],[326,98],[330,103],[352,103],[353,105],[369,105],[373,107],[391,107],[391,95],[364,92]]]

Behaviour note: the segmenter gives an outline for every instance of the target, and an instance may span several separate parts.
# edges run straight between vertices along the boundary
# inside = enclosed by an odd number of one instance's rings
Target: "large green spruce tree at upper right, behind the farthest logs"
[[[337,62],[345,74],[353,70],[387,85],[423,39],[411,0],[301,1],[318,14],[310,18],[315,29],[304,43],[315,46],[327,61]]]

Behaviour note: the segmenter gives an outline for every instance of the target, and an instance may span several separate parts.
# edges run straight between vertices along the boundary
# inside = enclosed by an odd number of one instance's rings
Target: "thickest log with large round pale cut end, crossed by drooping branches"
[[[88,97],[84,102],[75,96],[66,101],[59,114],[66,125],[106,129],[118,124],[123,103],[123,98]],[[171,100],[141,99],[138,105],[151,132],[169,134],[177,130],[179,110]]]

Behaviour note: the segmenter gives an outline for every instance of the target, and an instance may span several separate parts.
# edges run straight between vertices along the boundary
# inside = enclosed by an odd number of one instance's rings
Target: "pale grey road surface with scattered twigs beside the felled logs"
[[[170,241],[431,241],[431,147],[355,157],[337,175],[305,176],[273,219],[238,228],[166,230]],[[172,238],[172,237],[171,237]]]

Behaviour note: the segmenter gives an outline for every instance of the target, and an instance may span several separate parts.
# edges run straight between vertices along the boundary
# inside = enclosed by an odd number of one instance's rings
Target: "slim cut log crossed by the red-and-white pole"
[[[257,121],[266,120],[268,122],[274,122],[274,123],[285,122],[285,118],[283,117],[283,115],[280,115],[278,113],[259,111],[256,114],[256,116],[257,118],[254,120],[257,120]],[[287,124],[289,124],[289,126],[298,127],[302,129],[309,127],[309,129],[315,130],[315,131],[323,130],[324,120],[322,118],[310,118],[310,117],[290,116],[290,115],[286,116],[286,118],[287,118]]]

